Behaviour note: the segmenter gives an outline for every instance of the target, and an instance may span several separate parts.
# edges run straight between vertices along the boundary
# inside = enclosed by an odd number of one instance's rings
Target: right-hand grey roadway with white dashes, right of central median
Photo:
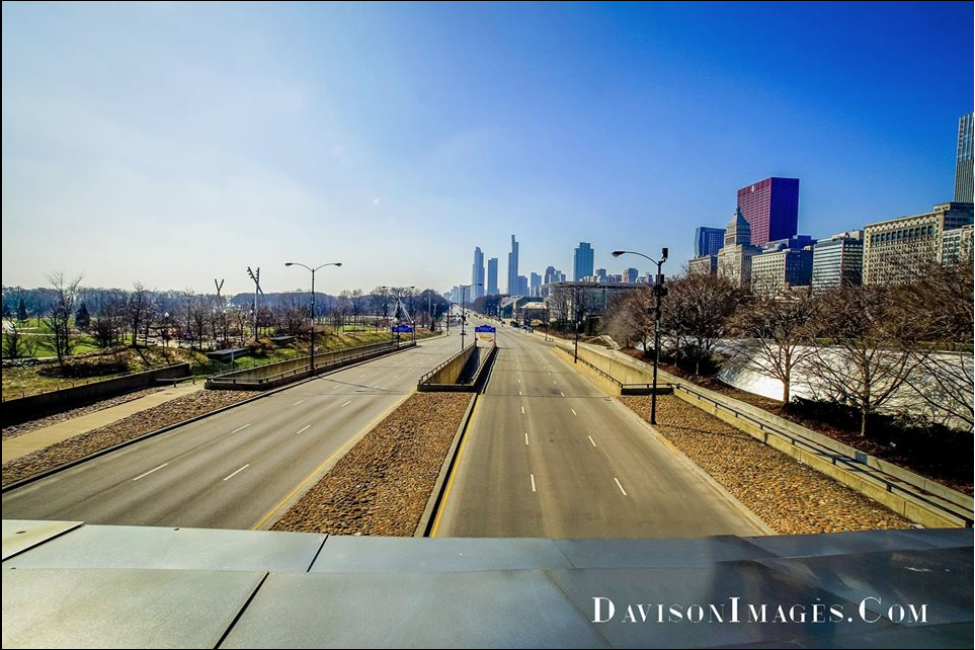
[[[498,345],[435,536],[763,533],[540,337],[504,327]]]

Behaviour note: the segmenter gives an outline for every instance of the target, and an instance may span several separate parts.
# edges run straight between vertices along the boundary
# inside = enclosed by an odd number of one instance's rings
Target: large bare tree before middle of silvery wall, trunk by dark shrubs
[[[804,364],[817,397],[860,411],[864,437],[870,416],[930,356],[930,348],[920,345],[923,325],[899,300],[903,289],[871,285],[832,292],[818,319],[830,345],[815,346]]]

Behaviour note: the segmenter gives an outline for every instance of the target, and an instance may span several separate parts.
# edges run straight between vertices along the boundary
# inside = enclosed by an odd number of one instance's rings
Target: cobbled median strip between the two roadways
[[[272,530],[412,536],[472,397],[415,393],[366,434]]]

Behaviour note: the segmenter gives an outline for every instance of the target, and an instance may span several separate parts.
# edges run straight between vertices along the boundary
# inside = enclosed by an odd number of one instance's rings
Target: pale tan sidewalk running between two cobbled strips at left
[[[89,413],[88,415],[58,422],[49,427],[37,429],[36,431],[31,431],[30,433],[25,433],[15,438],[9,438],[3,441],[3,464],[6,465],[12,460],[17,460],[21,456],[26,456],[39,449],[50,447],[68,438],[87,433],[93,429],[117,422],[122,418],[145,411],[154,406],[159,406],[160,404],[165,404],[177,397],[190,395],[202,389],[203,382],[180,384],[159,391],[158,393],[126,402],[125,404],[112,406],[101,411]]]

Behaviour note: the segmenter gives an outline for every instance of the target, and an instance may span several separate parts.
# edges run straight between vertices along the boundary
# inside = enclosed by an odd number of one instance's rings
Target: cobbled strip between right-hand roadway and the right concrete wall
[[[650,397],[620,397],[650,420]],[[657,431],[783,535],[912,528],[911,522],[678,397],[657,398]]]

